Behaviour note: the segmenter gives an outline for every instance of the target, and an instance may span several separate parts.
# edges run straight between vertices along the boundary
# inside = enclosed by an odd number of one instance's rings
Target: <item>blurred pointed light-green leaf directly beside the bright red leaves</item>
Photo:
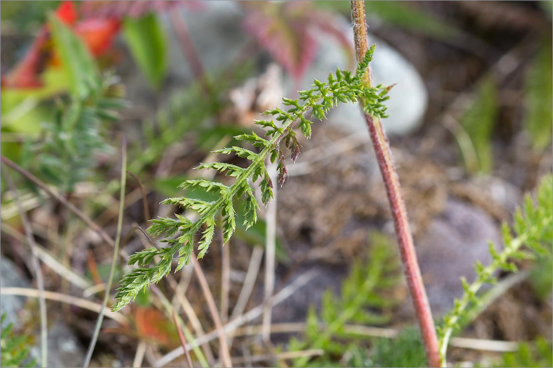
[[[98,67],[85,45],[55,15],[49,15],[50,29],[67,73],[71,77],[71,89],[77,96],[87,94],[88,81],[99,75]]]

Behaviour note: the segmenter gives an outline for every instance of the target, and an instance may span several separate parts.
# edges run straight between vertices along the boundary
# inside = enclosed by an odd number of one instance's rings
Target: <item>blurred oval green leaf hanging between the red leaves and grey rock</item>
[[[159,88],[167,67],[165,32],[155,14],[123,20],[123,36],[140,71],[150,85]]]

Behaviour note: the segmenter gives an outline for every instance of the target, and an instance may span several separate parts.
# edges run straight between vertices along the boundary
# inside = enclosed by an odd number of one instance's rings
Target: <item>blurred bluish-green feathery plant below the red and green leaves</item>
[[[44,124],[45,140],[32,149],[38,170],[65,193],[90,176],[96,153],[109,150],[101,123],[118,120],[114,109],[126,106],[117,77],[85,81],[86,93],[72,93],[69,103],[61,103],[54,122]]]

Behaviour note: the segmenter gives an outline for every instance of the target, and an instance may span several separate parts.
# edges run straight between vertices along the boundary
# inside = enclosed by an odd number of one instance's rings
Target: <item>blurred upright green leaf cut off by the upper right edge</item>
[[[535,150],[549,146],[553,133],[552,52],[551,38],[544,37],[525,80],[525,125]]]

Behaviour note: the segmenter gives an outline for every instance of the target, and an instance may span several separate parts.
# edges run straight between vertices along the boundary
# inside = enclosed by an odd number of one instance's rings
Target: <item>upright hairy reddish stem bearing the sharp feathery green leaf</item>
[[[357,60],[363,59],[367,51],[367,25],[365,20],[365,6],[363,1],[351,1],[351,15],[353,20],[353,33],[356,46]],[[363,82],[367,87],[371,86],[370,67],[363,75]],[[363,106],[364,102],[360,101]],[[384,181],[390,210],[394,219],[395,232],[398,236],[401,263],[405,278],[408,283],[409,292],[413,299],[416,318],[419,322],[422,343],[424,344],[426,359],[429,366],[439,367],[440,354],[438,351],[438,339],[434,319],[430,311],[430,305],[426,296],[424,283],[420,274],[419,263],[416,259],[413,235],[409,227],[407,211],[399,186],[398,175],[395,172],[392,154],[388,145],[387,136],[384,133],[380,119],[364,113],[365,121],[371,135],[374,151],[377,156],[378,166]]]

